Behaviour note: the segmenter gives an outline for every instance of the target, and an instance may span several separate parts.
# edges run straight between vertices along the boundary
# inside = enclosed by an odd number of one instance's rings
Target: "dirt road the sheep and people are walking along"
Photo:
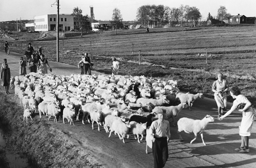
[[[19,54],[10,53],[9,56],[0,51],[0,60],[8,59],[11,75],[18,75],[18,61]],[[70,75],[71,73],[80,73],[77,67],[69,66],[67,64],[50,62],[53,73]],[[95,73],[95,72],[93,72]],[[1,87],[3,89],[3,87]],[[10,91],[10,96],[14,96],[14,90]],[[228,109],[231,107],[228,104]],[[223,121],[218,121],[216,103],[214,99],[204,98],[197,99],[192,111],[183,109],[175,118],[175,124],[181,117],[188,117],[193,119],[202,119],[209,114],[215,117],[215,121],[210,123],[204,132],[204,141],[207,146],[202,144],[200,135],[194,144],[190,144],[193,134],[186,134],[182,132],[184,142],[179,141],[176,133],[177,127],[171,126],[171,139],[168,144],[169,159],[166,163],[167,168],[253,168],[256,167],[256,124],[252,129],[252,135],[249,140],[250,152],[240,153],[234,151],[240,146],[241,139],[239,136],[238,126],[241,122],[242,114],[235,111]],[[45,118],[45,116],[44,116]],[[48,122],[48,121],[47,121]],[[153,167],[152,150],[149,154],[145,153],[145,138],[142,143],[138,143],[132,136],[125,139],[125,144],[119,140],[117,135],[112,134],[108,137],[103,126],[100,127],[100,132],[96,129],[92,130],[91,124],[85,122],[82,124],[81,116],[79,121],[74,121],[75,126],[63,124],[62,121],[54,123],[50,120],[48,123],[53,125],[58,130],[64,132],[74,145],[84,148],[90,153],[91,159],[97,161],[102,167],[109,168],[150,168]],[[172,125],[172,123],[171,123]]]

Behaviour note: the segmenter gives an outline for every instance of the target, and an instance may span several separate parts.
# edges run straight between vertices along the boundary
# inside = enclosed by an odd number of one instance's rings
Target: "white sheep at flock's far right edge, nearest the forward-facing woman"
[[[199,97],[203,98],[203,94],[202,93],[197,93],[197,94],[177,93],[176,95],[176,98],[179,98],[181,102],[188,103],[189,110],[191,110],[190,107],[193,105],[193,102]]]

